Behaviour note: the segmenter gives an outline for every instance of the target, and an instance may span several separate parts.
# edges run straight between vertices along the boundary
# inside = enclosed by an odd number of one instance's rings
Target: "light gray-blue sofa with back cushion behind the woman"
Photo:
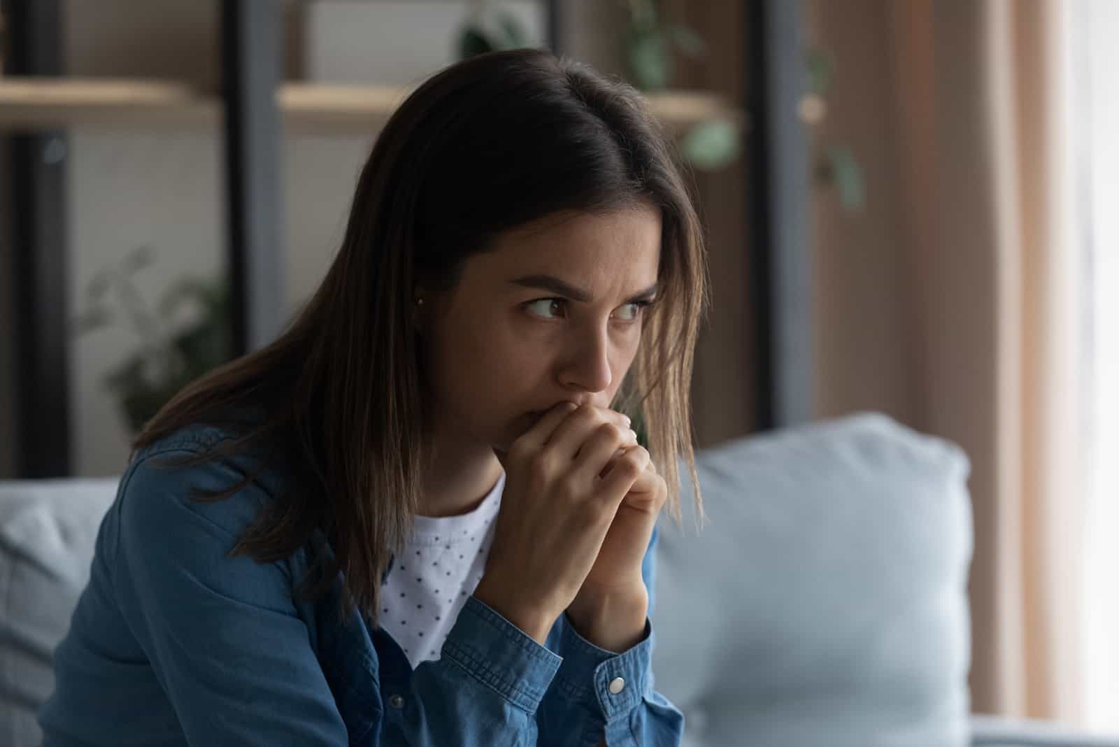
[[[699,454],[711,523],[661,524],[657,688],[692,747],[1119,747],[971,716],[968,464],[881,415]],[[689,485],[686,482],[686,485]],[[50,658],[115,480],[0,483],[0,745],[37,745]]]

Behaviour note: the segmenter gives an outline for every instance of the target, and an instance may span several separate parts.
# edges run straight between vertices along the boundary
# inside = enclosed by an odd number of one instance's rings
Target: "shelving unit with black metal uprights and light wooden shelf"
[[[282,319],[281,185],[274,173],[283,132],[373,133],[407,95],[396,86],[285,83],[280,69],[281,3],[218,0],[222,91],[140,78],[66,77],[62,0],[8,0],[11,60],[0,76],[0,135],[12,153],[17,346],[18,476],[69,474],[65,153],[70,127],[211,127],[226,142],[228,266],[238,352],[269,338]],[[563,0],[545,0],[547,38],[562,51]],[[679,133],[712,116],[743,132],[752,168],[743,205],[750,237],[762,429],[802,420],[810,409],[810,267],[807,144],[796,120],[803,88],[798,3],[742,0],[746,123],[741,107],[702,91],[648,96]],[[57,157],[57,158],[56,158]]]

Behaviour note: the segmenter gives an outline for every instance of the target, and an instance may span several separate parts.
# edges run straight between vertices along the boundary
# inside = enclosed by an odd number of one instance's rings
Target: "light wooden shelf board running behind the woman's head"
[[[408,88],[288,83],[276,100],[284,127],[301,132],[368,132],[384,124]],[[679,131],[721,115],[743,123],[741,110],[700,91],[648,96],[666,126]],[[0,77],[0,131],[111,126],[217,126],[220,97],[182,83],[119,78]]]

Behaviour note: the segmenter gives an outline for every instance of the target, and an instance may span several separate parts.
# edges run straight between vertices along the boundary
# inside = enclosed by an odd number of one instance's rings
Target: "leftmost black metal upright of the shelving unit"
[[[60,75],[62,0],[10,0],[9,69]],[[65,132],[9,138],[16,312],[16,473],[69,474]]]

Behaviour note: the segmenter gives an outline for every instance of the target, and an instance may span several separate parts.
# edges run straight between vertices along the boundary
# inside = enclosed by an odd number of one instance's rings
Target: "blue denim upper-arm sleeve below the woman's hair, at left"
[[[243,476],[220,461],[152,463],[191,453],[150,455],[125,473],[113,573],[178,727],[190,745],[347,745],[291,598],[290,567],[227,557],[266,494],[253,483],[223,501],[190,501],[194,489],[227,489]]]

